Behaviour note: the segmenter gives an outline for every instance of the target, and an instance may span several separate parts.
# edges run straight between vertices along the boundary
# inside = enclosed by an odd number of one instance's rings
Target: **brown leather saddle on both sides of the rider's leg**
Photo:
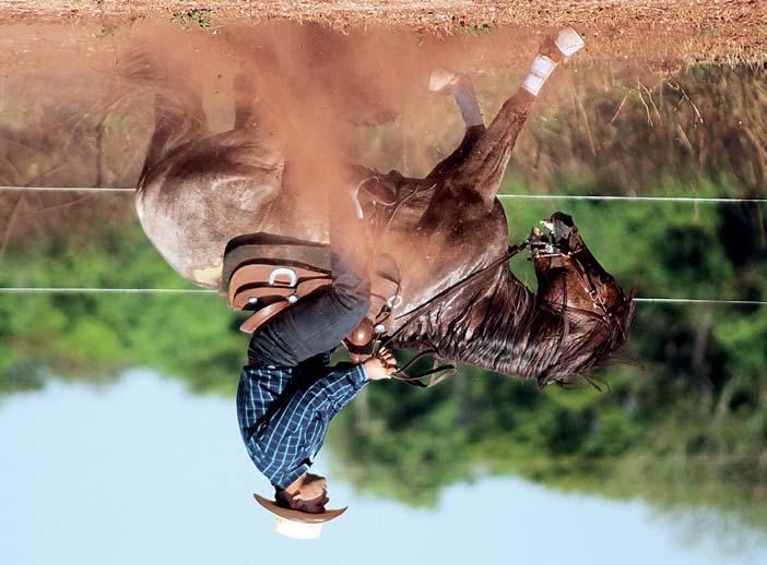
[[[386,253],[374,259],[370,310],[346,338],[357,359],[373,352],[376,334],[391,329],[389,312],[401,302],[399,268]],[[219,293],[235,311],[249,311],[240,330],[252,334],[299,300],[331,286],[330,245],[270,233],[232,239],[224,251]]]

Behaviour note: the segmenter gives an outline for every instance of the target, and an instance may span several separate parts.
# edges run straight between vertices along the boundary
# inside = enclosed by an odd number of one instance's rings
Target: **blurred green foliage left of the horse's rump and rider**
[[[2,259],[2,286],[179,288],[138,225],[107,227],[98,244],[51,240]],[[101,380],[151,365],[197,390],[232,392],[245,338],[213,297],[33,294],[0,300],[0,390],[23,389],[33,373]],[[106,376],[105,376],[106,375]]]

